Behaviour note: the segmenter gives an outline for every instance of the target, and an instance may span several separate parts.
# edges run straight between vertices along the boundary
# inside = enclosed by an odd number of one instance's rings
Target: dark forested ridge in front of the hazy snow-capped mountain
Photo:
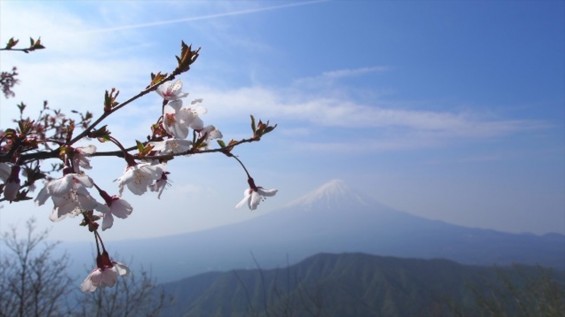
[[[565,278],[544,272],[526,266],[319,254],[284,269],[207,273],[165,284],[176,298],[165,315],[549,316],[550,311],[540,309],[555,308],[553,316],[560,316]],[[544,296],[545,302],[535,296]],[[516,306],[517,300],[527,307]]]

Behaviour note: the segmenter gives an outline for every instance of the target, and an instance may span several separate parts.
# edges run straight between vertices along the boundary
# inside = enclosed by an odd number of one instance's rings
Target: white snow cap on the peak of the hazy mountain
[[[333,179],[312,192],[290,203],[290,206],[301,206],[304,209],[316,207],[336,208],[351,205],[369,205],[369,200],[354,192],[340,179]]]

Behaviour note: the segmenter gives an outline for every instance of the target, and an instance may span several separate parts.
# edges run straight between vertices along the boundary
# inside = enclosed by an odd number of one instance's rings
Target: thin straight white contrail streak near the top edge
[[[149,28],[149,27],[155,27],[155,26],[163,26],[163,25],[170,25],[170,24],[211,20],[211,19],[218,19],[218,18],[224,18],[224,17],[260,13],[260,12],[266,12],[266,11],[282,10],[282,9],[287,9],[287,8],[292,8],[292,7],[313,5],[313,4],[328,2],[328,1],[329,0],[316,0],[316,1],[305,1],[305,2],[297,2],[297,3],[286,3],[286,4],[282,4],[282,5],[277,5],[277,6],[243,9],[243,10],[236,10],[236,11],[229,11],[229,12],[222,12],[222,13],[200,15],[200,16],[194,16],[194,17],[186,17],[186,18],[180,18],[180,19],[161,20],[161,21],[154,21],[154,22],[114,26],[114,27],[108,27],[108,28],[99,28],[99,29],[94,29],[94,30],[83,31],[83,32],[80,32],[80,33],[81,34],[106,33],[106,32],[132,30],[132,29],[143,29],[143,28]]]

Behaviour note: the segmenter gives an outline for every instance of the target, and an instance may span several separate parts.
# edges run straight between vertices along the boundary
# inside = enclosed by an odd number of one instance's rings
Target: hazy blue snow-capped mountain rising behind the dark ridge
[[[320,252],[445,258],[464,264],[565,268],[565,236],[466,228],[396,211],[330,181],[252,220],[186,234],[113,242],[160,282],[208,271],[274,268]]]

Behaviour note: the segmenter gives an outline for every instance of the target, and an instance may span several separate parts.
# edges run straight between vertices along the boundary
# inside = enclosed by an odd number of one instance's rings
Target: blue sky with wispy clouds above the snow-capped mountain
[[[19,67],[17,97],[0,99],[2,128],[24,101],[100,113],[104,90],[125,98],[174,67],[181,40],[202,47],[182,76],[205,123],[226,139],[249,114],[277,123],[237,154],[279,194],[254,213],[233,209],[246,186],[219,155],[170,164],[161,200],[132,201],[109,239],[244,221],[332,179],[396,209],[508,232],[565,233],[565,4],[560,1],[213,1],[0,3],[0,40],[41,36],[47,50],[1,55]],[[142,139],[158,115],[149,96],[109,121]],[[100,162],[100,163],[97,163]],[[99,159],[108,191],[124,166]],[[4,205],[0,229],[50,207]],[[90,239],[78,219],[60,239]],[[42,222],[43,223],[43,222]]]

